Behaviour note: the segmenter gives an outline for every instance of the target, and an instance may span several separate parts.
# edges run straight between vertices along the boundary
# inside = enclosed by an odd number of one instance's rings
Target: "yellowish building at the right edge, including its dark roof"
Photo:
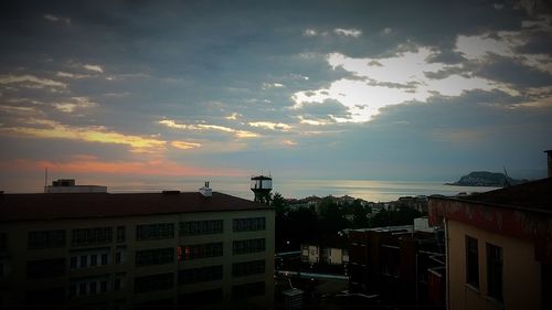
[[[447,309],[552,309],[552,179],[432,196],[446,239]]]

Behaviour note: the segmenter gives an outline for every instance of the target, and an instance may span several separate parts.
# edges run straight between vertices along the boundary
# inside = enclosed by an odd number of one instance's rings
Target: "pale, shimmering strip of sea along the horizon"
[[[148,182],[142,184],[112,185],[108,191],[117,192],[159,192],[162,190],[179,190],[182,192],[198,191],[204,179],[187,179],[171,183]],[[238,197],[253,200],[248,178],[211,178],[210,188]],[[456,186],[436,181],[376,181],[376,180],[273,180],[273,193],[278,192],[286,199],[302,199],[317,196],[349,195],[370,202],[396,201],[402,196],[417,195],[457,195],[459,193],[482,193],[498,188]]]

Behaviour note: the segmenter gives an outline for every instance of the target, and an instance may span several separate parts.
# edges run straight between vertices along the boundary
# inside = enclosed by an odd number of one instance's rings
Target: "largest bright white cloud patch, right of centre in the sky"
[[[426,101],[435,94],[443,96],[459,96],[471,89],[500,89],[512,96],[519,93],[506,84],[480,78],[465,77],[453,74],[446,78],[428,78],[426,73],[438,72],[453,66],[442,63],[429,63],[429,49],[421,47],[416,52],[405,52],[386,58],[352,58],[333,53],[328,56],[328,63],[333,67],[342,67],[353,73],[360,79],[341,78],[329,87],[297,92],[291,96],[294,109],[300,110],[305,103],[323,103],[328,99],[338,100],[347,107],[350,118],[329,115],[337,122],[364,122],[390,105],[405,101]],[[378,65],[373,65],[378,63]],[[319,120],[300,119],[301,124],[326,125]]]

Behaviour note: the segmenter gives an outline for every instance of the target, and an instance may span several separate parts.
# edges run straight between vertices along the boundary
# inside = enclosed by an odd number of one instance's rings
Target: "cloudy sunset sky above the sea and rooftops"
[[[534,1],[2,1],[0,190],[545,177]]]

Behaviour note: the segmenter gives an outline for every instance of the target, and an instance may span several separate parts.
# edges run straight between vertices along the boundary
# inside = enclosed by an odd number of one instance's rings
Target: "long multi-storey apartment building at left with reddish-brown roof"
[[[274,211],[201,193],[0,194],[1,309],[270,309]]]

